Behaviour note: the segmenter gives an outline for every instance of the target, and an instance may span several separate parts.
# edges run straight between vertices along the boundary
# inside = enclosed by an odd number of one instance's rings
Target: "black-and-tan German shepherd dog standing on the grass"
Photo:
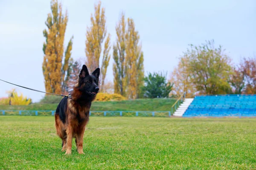
[[[99,91],[99,72],[96,68],[90,75],[86,65],[83,65],[76,85],[70,92],[71,98],[65,96],[55,112],[55,127],[58,136],[62,139],[62,150],[65,154],[71,153],[72,139],[76,139],[76,148],[79,154],[84,154],[83,137],[92,101]]]

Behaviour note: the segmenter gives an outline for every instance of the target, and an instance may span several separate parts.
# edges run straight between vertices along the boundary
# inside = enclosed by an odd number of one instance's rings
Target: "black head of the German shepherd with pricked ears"
[[[78,83],[76,84],[76,88],[81,91],[83,94],[88,94],[90,96],[95,96],[99,92],[99,72],[100,69],[96,68],[93,73],[90,75],[86,65],[83,65]]]

